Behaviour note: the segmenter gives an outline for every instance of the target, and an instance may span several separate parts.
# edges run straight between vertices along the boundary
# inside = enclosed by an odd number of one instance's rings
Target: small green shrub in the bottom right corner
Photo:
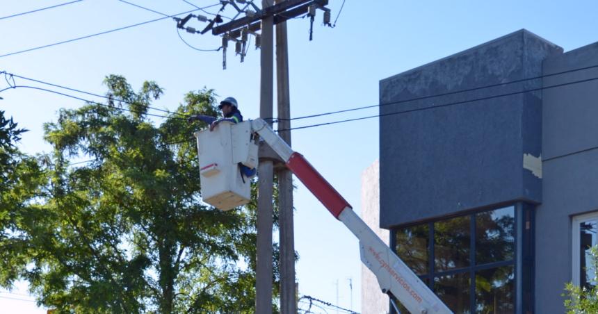
[[[590,265],[594,272],[593,282],[598,281],[598,246],[590,248]],[[598,286],[576,286],[573,283],[565,285],[566,293],[563,293],[565,299],[565,308],[567,313],[598,313]]]

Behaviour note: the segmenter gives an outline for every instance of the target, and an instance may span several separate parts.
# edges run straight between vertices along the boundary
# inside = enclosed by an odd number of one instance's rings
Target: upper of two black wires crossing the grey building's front
[[[515,81],[508,81],[508,82],[504,82],[504,83],[496,83],[496,84],[491,84],[491,85],[485,85],[485,86],[480,86],[477,88],[467,88],[464,90],[455,90],[453,92],[444,92],[444,93],[440,93],[440,94],[432,94],[432,95],[428,95],[428,96],[422,96],[422,97],[415,97],[415,98],[411,98],[411,99],[404,99],[404,100],[399,100],[399,101],[391,101],[388,103],[384,103],[384,104],[377,104],[377,105],[371,105],[371,106],[362,106],[362,107],[357,107],[357,108],[348,108],[348,109],[344,109],[344,110],[337,110],[337,111],[330,111],[328,113],[318,113],[318,114],[314,114],[314,115],[304,115],[302,117],[293,117],[290,119],[278,119],[278,120],[285,120],[285,121],[291,121],[291,120],[299,120],[299,119],[308,119],[308,118],[312,118],[312,117],[322,117],[324,115],[334,115],[337,113],[348,113],[350,111],[355,111],[355,110],[363,110],[363,109],[369,109],[369,108],[376,108],[376,107],[384,107],[384,106],[390,106],[390,105],[396,105],[396,104],[403,104],[403,103],[407,103],[410,101],[418,101],[418,100],[423,100],[423,99],[430,99],[430,98],[435,98],[435,97],[444,97],[444,96],[448,96],[448,95],[453,95],[453,94],[460,94],[462,92],[473,92],[475,90],[485,90],[487,88],[496,88],[499,86],[506,86],[506,85],[510,85],[510,84],[514,84],[514,83],[522,83],[525,81],[532,81],[532,80],[536,80],[539,78],[546,78],[546,77],[551,77],[551,76],[558,76],[561,74],[567,74],[567,73],[572,73],[572,72],[578,72],[578,71],[583,71],[585,69],[593,69],[593,68],[597,68],[598,65],[590,65],[588,67],[579,67],[576,69],[569,69],[567,71],[563,71],[563,72],[556,72],[556,73],[552,73],[552,74],[544,74],[544,75],[540,75],[540,76],[532,76],[532,77],[528,77],[528,78],[521,78]]]

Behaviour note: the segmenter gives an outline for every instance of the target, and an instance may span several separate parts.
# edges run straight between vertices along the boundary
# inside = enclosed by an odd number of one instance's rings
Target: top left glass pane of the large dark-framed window
[[[396,255],[416,274],[428,273],[428,224],[396,231]]]

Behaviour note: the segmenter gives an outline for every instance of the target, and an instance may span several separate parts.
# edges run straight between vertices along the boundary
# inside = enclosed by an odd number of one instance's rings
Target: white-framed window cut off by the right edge
[[[590,247],[598,244],[598,213],[573,218],[573,283],[577,286],[596,286],[595,270],[590,263]]]

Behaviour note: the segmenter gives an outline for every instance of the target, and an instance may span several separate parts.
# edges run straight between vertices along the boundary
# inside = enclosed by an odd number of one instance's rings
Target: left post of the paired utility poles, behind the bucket
[[[272,0],[262,0],[264,10],[272,6]],[[268,16],[261,20],[261,93],[259,116],[269,121],[273,117],[273,19]],[[261,157],[261,156],[260,156]],[[259,158],[259,185],[257,197],[257,274],[256,274],[256,313],[272,313],[272,217],[273,180],[272,160]]]

